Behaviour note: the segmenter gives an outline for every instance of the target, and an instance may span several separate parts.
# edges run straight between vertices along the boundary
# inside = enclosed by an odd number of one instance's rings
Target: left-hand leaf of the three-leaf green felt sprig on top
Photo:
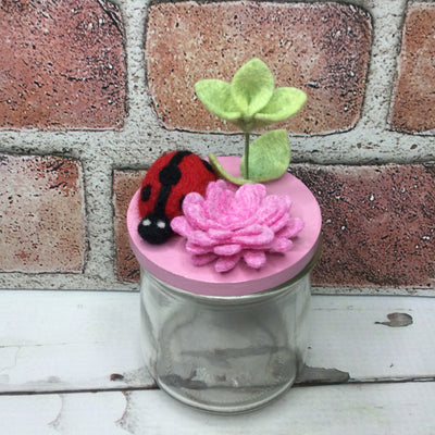
[[[219,117],[232,121],[241,116],[228,83],[217,79],[199,80],[195,84],[195,90],[206,108]]]

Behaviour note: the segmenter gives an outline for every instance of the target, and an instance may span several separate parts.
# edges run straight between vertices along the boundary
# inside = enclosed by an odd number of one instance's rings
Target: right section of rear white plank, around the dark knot
[[[435,377],[435,300],[422,297],[313,297],[308,364],[358,381]],[[389,313],[412,324],[388,327]]]

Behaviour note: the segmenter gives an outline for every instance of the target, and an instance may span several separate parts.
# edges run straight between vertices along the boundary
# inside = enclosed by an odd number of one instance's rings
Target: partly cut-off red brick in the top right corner
[[[408,9],[393,98],[390,128],[402,133],[435,130],[435,4]]]

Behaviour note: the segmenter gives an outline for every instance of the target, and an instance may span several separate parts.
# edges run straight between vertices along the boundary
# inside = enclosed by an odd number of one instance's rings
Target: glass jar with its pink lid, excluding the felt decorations
[[[239,175],[238,158],[220,162]],[[259,270],[243,263],[225,273],[212,263],[196,266],[179,236],[147,244],[138,234],[139,190],[128,207],[130,247],[141,268],[146,365],[162,389],[208,411],[259,408],[287,389],[303,365],[321,211],[307,186],[289,173],[265,187],[268,195],[290,197],[290,213],[304,227],[290,250],[268,253]]]

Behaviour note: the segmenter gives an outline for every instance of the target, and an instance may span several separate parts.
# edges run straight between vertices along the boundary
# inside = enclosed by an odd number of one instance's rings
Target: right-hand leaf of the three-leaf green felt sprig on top
[[[297,113],[307,100],[307,95],[297,88],[277,88],[268,104],[256,113],[256,121],[274,123]]]

